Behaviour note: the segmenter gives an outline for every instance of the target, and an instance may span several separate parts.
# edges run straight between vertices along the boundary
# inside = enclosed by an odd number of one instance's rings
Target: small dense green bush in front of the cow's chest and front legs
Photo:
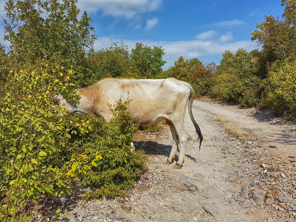
[[[143,173],[143,152],[131,152],[137,126],[132,123],[131,114],[126,112],[128,105],[129,100],[123,102],[121,99],[116,105],[109,105],[113,113],[110,123],[87,116],[92,130],[74,141],[72,149],[90,158],[85,163],[90,166],[88,170],[81,171],[80,184],[99,187],[86,193],[86,198],[125,195],[124,191],[131,189]]]

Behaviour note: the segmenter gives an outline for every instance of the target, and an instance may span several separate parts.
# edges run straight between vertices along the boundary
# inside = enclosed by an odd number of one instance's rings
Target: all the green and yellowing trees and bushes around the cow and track
[[[189,82],[197,95],[296,117],[296,9],[291,1],[282,1],[282,18],[268,15],[257,25],[252,40],[260,50],[226,51],[219,65],[180,56],[166,71],[160,46],[136,43],[130,51],[123,41],[110,42],[95,52],[91,17],[78,16],[76,3],[5,3],[4,39],[10,47],[0,47],[0,221],[28,220],[40,195],[70,194],[77,181],[93,188],[87,199],[124,196],[139,179],[145,160],[142,152],[130,152],[133,133],[157,131],[159,125],[132,123],[125,112],[130,100],[118,98],[110,105],[110,123],[69,115],[54,103],[57,94],[78,102],[75,89],[102,78],[174,77]]]

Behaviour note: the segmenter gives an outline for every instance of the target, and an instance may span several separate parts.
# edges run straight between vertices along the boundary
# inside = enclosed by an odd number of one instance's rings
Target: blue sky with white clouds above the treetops
[[[251,41],[256,24],[265,20],[264,15],[281,16],[284,11],[280,0],[78,0],[78,8],[94,20],[95,50],[121,39],[129,49],[136,42],[162,46],[164,70],[181,55],[219,64],[225,50],[257,49]],[[5,13],[0,11],[0,16]],[[1,22],[0,42],[8,45],[3,32]]]

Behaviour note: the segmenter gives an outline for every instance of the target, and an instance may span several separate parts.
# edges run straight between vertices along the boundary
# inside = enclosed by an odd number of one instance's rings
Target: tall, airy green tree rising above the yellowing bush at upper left
[[[46,59],[69,67],[82,63],[96,36],[86,12],[78,19],[77,2],[7,0],[4,39],[10,42],[12,59],[19,63]]]

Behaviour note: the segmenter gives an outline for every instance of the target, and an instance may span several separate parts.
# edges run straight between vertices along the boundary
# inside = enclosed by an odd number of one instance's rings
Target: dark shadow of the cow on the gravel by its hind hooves
[[[139,141],[133,143],[135,150],[143,150],[147,155],[163,155],[165,157],[170,156],[172,145],[160,144],[155,141]],[[179,149],[177,150],[179,152]],[[176,153],[175,161],[178,162],[178,152]],[[195,158],[191,155],[185,154],[190,160],[195,161]]]

